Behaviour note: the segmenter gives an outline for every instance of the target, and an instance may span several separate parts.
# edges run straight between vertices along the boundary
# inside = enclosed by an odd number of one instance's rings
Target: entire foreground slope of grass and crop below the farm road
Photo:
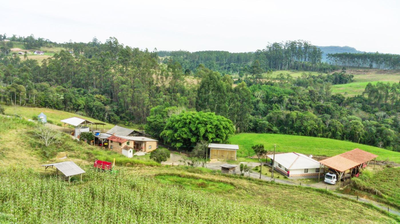
[[[63,218],[66,223],[399,221],[322,190],[247,180],[201,167],[153,165],[148,157],[130,159],[67,135],[62,143],[44,147],[32,137],[33,125],[0,117],[0,144],[6,146],[0,152],[0,223],[58,223],[62,214],[69,214]],[[41,164],[61,162],[57,158],[64,155],[86,171],[82,183],[73,178],[68,186],[44,173]],[[91,167],[95,158],[103,157],[116,158],[118,174]]]

